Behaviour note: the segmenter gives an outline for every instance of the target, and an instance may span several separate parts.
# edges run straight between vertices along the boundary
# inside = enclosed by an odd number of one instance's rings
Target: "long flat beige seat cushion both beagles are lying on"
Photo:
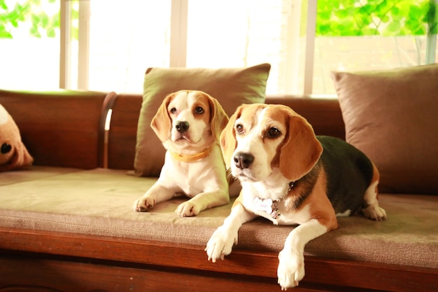
[[[231,203],[185,218],[174,212],[185,197],[133,211],[155,181],[94,169],[0,186],[0,226],[204,246]],[[339,228],[309,242],[306,254],[438,268],[438,196],[381,194],[379,200],[388,221],[339,218]],[[292,228],[258,218],[243,224],[235,248],[281,251]]]

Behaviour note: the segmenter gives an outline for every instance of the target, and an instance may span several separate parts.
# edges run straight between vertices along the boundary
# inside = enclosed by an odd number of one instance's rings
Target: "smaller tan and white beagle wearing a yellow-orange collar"
[[[134,210],[148,211],[179,194],[190,197],[177,207],[179,216],[229,203],[219,145],[227,122],[218,100],[205,92],[180,90],[165,97],[150,124],[167,150],[164,165],[157,182],[134,202]]]

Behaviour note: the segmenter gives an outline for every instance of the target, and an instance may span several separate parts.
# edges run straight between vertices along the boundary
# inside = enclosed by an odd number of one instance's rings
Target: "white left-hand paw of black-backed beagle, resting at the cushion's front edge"
[[[223,260],[225,256],[231,253],[233,244],[237,244],[237,232],[233,235],[230,230],[222,225],[213,232],[204,250],[209,256],[209,260],[216,263],[216,260]]]

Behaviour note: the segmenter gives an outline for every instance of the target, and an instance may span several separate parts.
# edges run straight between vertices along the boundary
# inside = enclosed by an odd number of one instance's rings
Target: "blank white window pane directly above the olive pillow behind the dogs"
[[[284,93],[281,71],[292,1],[190,0],[187,67],[271,64],[267,92]]]

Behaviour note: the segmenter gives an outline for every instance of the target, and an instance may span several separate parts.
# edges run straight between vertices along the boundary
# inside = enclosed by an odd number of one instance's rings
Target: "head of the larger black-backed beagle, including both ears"
[[[323,151],[302,116],[274,104],[240,106],[220,143],[227,167],[241,181],[265,181],[278,173],[296,181],[313,168]]]

